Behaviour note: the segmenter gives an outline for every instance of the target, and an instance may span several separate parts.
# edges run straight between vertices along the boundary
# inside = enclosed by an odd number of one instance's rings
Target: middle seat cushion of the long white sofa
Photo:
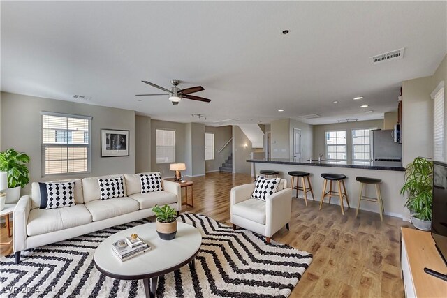
[[[94,200],[86,203],[85,207],[90,211],[93,221],[102,221],[106,218],[137,211],[140,205],[131,198],[112,198],[108,200]]]

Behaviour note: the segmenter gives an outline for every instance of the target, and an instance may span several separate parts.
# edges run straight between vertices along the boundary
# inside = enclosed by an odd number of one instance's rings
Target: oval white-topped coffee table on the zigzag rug
[[[135,258],[121,262],[112,251],[112,243],[136,233],[152,247],[152,250]],[[146,297],[156,297],[159,276],[175,271],[192,262],[202,244],[202,235],[192,225],[177,223],[177,234],[173,240],[161,240],[155,223],[138,225],[117,232],[105,239],[94,255],[96,268],[111,278],[142,279]],[[150,281],[149,281],[150,278]]]

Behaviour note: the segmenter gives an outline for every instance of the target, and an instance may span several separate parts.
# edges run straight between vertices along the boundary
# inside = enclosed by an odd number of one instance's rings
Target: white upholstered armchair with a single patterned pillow
[[[251,230],[266,237],[278,232],[284,225],[288,230],[291,220],[292,190],[287,187],[287,181],[281,179],[277,193],[266,198],[265,202],[253,199],[251,193],[255,184],[244,184],[231,188],[230,193],[230,221],[233,229],[237,226]]]

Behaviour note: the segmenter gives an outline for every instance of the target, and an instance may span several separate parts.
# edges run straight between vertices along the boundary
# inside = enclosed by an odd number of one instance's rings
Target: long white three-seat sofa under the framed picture
[[[141,174],[154,174],[147,172]],[[98,179],[123,177],[125,197],[100,200]],[[180,185],[161,179],[163,191],[140,193],[140,174],[117,174],[103,177],[71,179],[74,181],[75,205],[57,209],[39,209],[41,195],[38,182],[31,184],[31,195],[17,202],[13,216],[15,262],[20,252],[78,237],[82,234],[154,216],[152,207],[168,204],[182,210]]]

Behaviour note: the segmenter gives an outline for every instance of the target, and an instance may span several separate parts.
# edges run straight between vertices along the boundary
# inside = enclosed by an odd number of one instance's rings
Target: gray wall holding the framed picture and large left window
[[[82,177],[135,172],[134,111],[1,92],[1,151],[15,148],[27,153],[31,157],[31,181],[41,179],[41,111],[93,117],[91,174]],[[101,128],[129,130],[129,156],[101,158]],[[68,177],[76,176],[52,176],[50,179]],[[28,190],[29,186],[25,191]]]

